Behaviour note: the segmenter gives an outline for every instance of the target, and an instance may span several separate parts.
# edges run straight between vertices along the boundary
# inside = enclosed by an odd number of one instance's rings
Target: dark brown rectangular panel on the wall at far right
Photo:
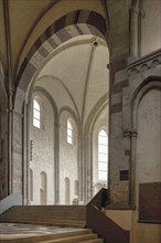
[[[161,223],[161,182],[139,184],[139,222]]]

